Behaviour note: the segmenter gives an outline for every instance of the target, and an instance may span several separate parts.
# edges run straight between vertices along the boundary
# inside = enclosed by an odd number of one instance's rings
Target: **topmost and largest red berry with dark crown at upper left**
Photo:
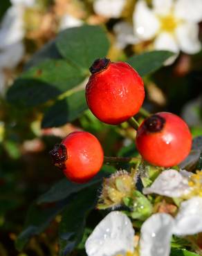
[[[125,62],[95,60],[86,84],[86,102],[102,122],[118,125],[136,113],[143,104],[145,90],[142,78]]]

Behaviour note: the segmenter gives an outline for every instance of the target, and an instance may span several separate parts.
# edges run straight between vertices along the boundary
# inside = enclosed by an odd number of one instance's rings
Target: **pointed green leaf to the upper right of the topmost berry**
[[[140,76],[148,75],[163,66],[165,60],[174,53],[169,51],[152,51],[130,57],[127,62],[136,69]]]

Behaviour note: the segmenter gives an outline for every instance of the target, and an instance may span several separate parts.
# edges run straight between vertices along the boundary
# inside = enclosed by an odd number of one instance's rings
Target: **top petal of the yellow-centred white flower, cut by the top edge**
[[[154,12],[158,15],[168,15],[172,10],[173,0],[153,0]]]

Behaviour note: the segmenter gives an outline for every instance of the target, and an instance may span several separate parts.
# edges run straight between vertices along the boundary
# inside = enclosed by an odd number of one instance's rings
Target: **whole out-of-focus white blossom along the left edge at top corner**
[[[15,68],[24,56],[23,39],[24,12],[32,7],[35,0],[11,0],[12,6],[6,11],[0,26],[0,93],[3,94],[6,84],[6,68]]]

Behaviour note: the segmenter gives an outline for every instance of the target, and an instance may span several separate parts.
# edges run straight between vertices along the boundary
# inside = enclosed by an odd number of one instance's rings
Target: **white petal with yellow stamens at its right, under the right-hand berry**
[[[143,188],[144,194],[160,194],[169,197],[183,197],[189,199],[192,196],[202,196],[202,172],[196,174],[181,170],[166,170],[162,172],[149,188]]]

